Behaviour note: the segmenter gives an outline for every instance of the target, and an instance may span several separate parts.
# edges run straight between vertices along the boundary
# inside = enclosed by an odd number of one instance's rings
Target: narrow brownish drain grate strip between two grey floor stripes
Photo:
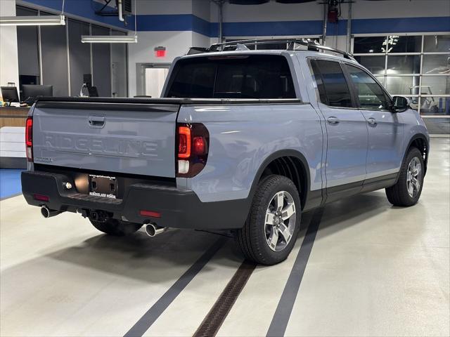
[[[252,275],[253,270],[255,270],[255,267],[255,263],[247,261],[244,261],[242,265],[240,265],[236,273],[231,277],[230,282],[226,285],[224,291],[220,294],[216,303],[212,306],[210,312],[208,312],[208,315],[203,319],[202,324],[200,324],[197,331],[195,331],[193,337],[216,336],[250,275]]]

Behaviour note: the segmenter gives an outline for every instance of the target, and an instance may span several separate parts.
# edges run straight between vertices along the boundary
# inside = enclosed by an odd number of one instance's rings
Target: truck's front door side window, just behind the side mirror
[[[347,65],[362,109],[389,110],[390,100],[375,79],[364,70]]]

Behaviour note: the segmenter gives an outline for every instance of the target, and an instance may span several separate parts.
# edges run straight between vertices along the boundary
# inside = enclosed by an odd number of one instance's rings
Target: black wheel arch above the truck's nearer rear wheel
[[[309,166],[304,155],[297,150],[279,150],[264,159],[253,180],[250,199],[253,199],[259,181],[269,174],[279,174],[293,180],[299,191],[303,209],[311,185]]]

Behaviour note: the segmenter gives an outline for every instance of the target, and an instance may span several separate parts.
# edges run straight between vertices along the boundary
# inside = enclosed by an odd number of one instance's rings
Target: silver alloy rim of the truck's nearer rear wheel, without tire
[[[264,229],[266,242],[272,251],[288,246],[295,230],[295,204],[289,192],[277,192],[266,210]]]

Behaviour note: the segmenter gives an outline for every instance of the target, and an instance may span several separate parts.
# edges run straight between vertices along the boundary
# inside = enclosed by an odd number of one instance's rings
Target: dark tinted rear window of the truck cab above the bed
[[[212,56],[176,62],[166,97],[295,98],[295,90],[283,56]]]

